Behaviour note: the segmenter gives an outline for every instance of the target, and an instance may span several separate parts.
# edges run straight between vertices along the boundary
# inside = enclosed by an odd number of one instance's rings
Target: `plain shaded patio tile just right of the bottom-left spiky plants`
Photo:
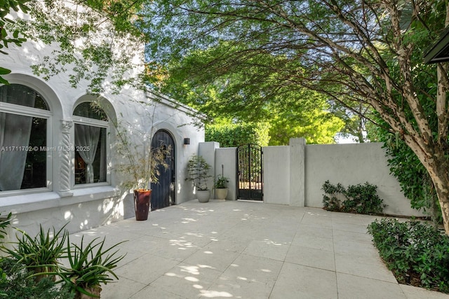
[[[125,277],[147,285],[161,277],[161,275],[175,267],[178,263],[177,260],[145,254],[144,256],[136,258],[130,263],[117,268],[114,272],[120,277]]]

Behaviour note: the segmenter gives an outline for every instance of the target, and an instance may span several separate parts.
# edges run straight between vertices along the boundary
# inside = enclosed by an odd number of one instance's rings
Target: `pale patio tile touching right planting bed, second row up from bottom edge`
[[[335,253],[335,270],[358,277],[396,283],[394,275],[388,270],[380,258],[366,258],[363,256]]]

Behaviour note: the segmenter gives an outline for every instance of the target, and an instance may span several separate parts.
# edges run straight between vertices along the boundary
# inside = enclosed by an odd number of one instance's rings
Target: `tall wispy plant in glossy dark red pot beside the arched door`
[[[171,148],[164,145],[152,148],[145,138],[140,143],[130,142],[129,133],[123,125],[114,123],[114,127],[119,139],[116,152],[126,161],[116,168],[130,178],[123,181],[121,186],[133,190],[135,218],[138,221],[145,221],[151,205],[152,190],[149,186],[151,183],[157,183],[161,169],[168,168],[166,158],[170,155]],[[145,134],[143,135],[145,137]]]

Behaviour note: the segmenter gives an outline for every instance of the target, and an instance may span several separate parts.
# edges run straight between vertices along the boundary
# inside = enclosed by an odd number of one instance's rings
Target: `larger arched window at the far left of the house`
[[[32,88],[0,86],[0,191],[47,187],[49,110]]]

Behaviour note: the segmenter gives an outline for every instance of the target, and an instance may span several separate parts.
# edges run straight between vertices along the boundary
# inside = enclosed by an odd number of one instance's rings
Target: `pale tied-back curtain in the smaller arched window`
[[[93,161],[100,140],[100,127],[91,125],[75,125],[75,146],[86,151],[78,151],[86,162],[86,183],[93,183]],[[88,150],[87,150],[88,149]]]

